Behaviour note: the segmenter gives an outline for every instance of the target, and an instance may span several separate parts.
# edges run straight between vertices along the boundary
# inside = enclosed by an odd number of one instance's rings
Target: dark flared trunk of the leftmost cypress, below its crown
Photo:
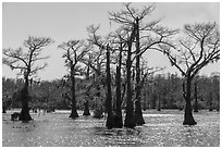
[[[22,111],[18,116],[18,121],[30,121],[29,108],[28,108],[28,76],[25,76],[25,85],[21,90],[21,100],[22,100]]]

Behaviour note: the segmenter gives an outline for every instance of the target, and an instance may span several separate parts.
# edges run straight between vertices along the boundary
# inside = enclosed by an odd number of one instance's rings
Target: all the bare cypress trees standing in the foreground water
[[[194,83],[199,84],[195,82],[199,71],[220,59],[218,26],[215,23],[202,23],[185,25],[184,30],[180,30],[161,26],[161,20],[145,22],[155,8],[155,4],[150,4],[138,10],[133,8],[131,3],[124,3],[124,10],[109,13],[110,22],[119,24],[116,30],[102,37],[98,34],[99,26],[91,25],[87,28],[87,39],[69,40],[58,46],[64,51],[62,58],[69,74],[63,77],[62,83],[50,88],[48,95],[51,95],[50,91],[53,88],[69,88],[63,97],[72,101],[70,117],[78,117],[76,95],[79,94],[79,90],[76,90],[76,80],[84,79],[85,84],[82,85],[85,85],[85,107],[87,109],[88,99],[91,98],[101,102],[97,105],[99,109],[104,103],[108,113],[106,124],[108,128],[143,125],[145,123],[141,113],[143,92],[151,91],[147,78],[161,70],[150,69],[144,64],[143,54],[147,50],[156,50],[163,53],[171,64],[181,72],[182,78],[175,78],[178,79],[176,83],[181,83],[181,95],[185,99],[183,124],[196,124],[192,112],[192,88]],[[3,49],[3,63],[11,69],[21,70],[24,76],[24,87],[18,95],[22,101],[21,121],[32,120],[28,113],[28,101],[32,99],[30,97],[35,97],[30,96],[30,85],[34,83],[32,76],[46,67],[46,64],[41,66],[35,64],[37,61],[46,59],[46,57],[40,57],[40,51],[52,42],[51,38],[28,37],[24,42],[27,52],[24,52],[22,48],[16,50]],[[152,87],[152,91],[155,91],[152,98],[159,99],[159,107],[164,105],[163,101],[166,101],[169,96],[169,99],[176,98],[174,86],[168,88],[165,86],[166,80],[170,82],[171,79],[155,76],[153,84],[156,85]],[[211,94],[214,95],[214,92]],[[41,100],[45,99],[47,100],[47,96]],[[124,123],[122,117],[123,103],[126,112]],[[144,102],[145,104],[147,103]]]

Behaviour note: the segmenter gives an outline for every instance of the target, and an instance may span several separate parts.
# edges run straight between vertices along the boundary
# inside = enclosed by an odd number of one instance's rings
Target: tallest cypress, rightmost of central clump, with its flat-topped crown
[[[135,123],[136,125],[145,124],[143,113],[141,113],[141,89],[140,85],[140,59],[141,54],[146,52],[148,49],[152,49],[153,47],[158,46],[159,44],[165,44],[164,39],[171,37],[176,30],[171,30],[166,27],[158,26],[160,20],[151,21],[147,24],[143,23],[146,16],[149,16],[152,11],[155,10],[155,4],[151,3],[148,7],[144,7],[141,10],[134,9],[131,7],[131,3],[124,3],[125,10],[121,12],[111,12],[110,20],[123,25],[123,28],[131,28],[135,30],[135,35],[131,40],[132,45],[135,44],[135,51],[132,49],[131,53],[131,63],[133,63],[134,59],[136,59],[136,104],[135,104]],[[141,36],[140,36],[141,34]],[[150,36],[155,35],[155,36]],[[143,44],[140,44],[143,42]],[[166,42],[168,44],[168,42]],[[135,57],[133,58],[133,54]],[[126,112],[127,113],[127,112]],[[132,119],[134,120],[134,119]]]

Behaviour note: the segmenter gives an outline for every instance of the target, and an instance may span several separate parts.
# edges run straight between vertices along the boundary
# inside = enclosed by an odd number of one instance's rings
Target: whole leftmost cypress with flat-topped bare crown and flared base
[[[39,70],[42,70],[47,66],[45,63],[41,66],[36,66],[35,64],[48,57],[40,57],[42,48],[51,45],[53,40],[51,38],[45,37],[28,37],[24,41],[24,47],[27,48],[27,51],[24,52],[22,48],[18,49],[3,49],[3,64],[9,65],[12,70],[20,70],[24,76],[24,87],[20,91],[20,99],[22,102],[22,111],[20,113],[20,121],[30,121],[29,115],[28,100],[29,100],[29,77],[36,74]]]

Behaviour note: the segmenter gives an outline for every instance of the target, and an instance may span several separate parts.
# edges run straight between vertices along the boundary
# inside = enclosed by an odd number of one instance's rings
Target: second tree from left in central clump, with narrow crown
[[[116,64],[115,71],[115,127],[121,128],[123,126],[122,103],[125,95],[125,83],[122,80],[122,71],[125,71],[123,66],[126,65],[124,61],[126,58],[127,40],[130,39],[128,30],[124,27],[118,28],[114,33],[109,34],[109,42],[112,44],[112,60]],[[123,73],[125,74],[125,73]]]

